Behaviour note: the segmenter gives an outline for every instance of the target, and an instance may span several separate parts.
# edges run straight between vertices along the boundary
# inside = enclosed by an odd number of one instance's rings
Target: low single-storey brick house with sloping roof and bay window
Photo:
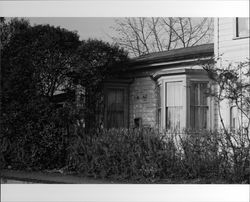
[[[207,95],[211,81],[202,68],[213,56],[214,44],[205,44],[132,59],[105,83],[104,126],[217,128],[216,104]]]

